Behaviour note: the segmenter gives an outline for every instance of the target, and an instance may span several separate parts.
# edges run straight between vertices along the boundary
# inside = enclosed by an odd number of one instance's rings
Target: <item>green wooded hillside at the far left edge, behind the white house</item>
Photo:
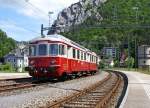
[[[16,42],[0,29],[0,58],[16,47]]]

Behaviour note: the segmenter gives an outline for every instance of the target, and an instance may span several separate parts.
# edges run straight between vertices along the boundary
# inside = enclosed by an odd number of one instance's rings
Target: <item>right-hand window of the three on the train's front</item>
[[[50,44],[50,46],[49,46],[49,54],[51,56],[58,55],[58,44]]]

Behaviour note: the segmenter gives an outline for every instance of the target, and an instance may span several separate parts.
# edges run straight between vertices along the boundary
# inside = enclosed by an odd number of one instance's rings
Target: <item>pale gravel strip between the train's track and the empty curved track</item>
[[[48,84],[41,90],[29,91],[22,94],[0,97],[0,108],[38,108],[69,96],[72,93],[80,92],[98,81],[104,79],[108,73],[101,72],[97,75],[75,79],[66,82]]]

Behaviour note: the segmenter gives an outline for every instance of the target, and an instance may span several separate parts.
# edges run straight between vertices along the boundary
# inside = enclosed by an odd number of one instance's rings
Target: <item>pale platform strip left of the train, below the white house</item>
[[[28,73],[0,73],[0,80],[30,77]]]

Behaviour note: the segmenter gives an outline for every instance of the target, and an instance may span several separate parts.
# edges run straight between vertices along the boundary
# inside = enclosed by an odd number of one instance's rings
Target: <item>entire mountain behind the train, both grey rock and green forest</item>
[[[104,27],[98,28],[97,24]],[[126,50],[134,58],[138,46],[150,45],[148,27],[149,0],[82,0],[62,10],[53,24],[55,32],[97,54],[103,47],[117,47],[122,51],[127,45]]]

